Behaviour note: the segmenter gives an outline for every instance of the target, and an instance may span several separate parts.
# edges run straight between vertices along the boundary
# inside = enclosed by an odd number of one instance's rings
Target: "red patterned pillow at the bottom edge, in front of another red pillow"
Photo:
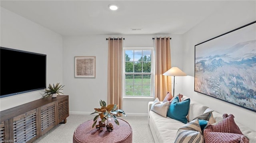
[[[238,133],[212,132],[204,130],[204,143],[249,143],[249,139]]]

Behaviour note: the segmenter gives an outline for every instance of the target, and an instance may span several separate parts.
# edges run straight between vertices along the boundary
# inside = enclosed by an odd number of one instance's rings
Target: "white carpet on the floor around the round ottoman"
[[[72,143],[73,133],[76,127],[94,117],[95,115],[70,114],[67,118],[67,123],[58,124],[33,143]],[[154,143],[154,139],[148,126],[148,117],[127,116],[121,118],[126,120],[132,127],[133,143]]]

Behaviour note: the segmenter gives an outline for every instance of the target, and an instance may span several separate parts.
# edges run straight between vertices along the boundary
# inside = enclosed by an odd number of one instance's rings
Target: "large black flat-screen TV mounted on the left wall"
[[[0,47],[0,98],[46,88],[46,55]]]

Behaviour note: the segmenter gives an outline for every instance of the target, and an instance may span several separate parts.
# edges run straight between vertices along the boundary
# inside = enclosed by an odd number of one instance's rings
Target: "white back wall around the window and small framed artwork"
[[[63,82],[69,96],[72,114],[90,114],[99,107],[99,100],[107,101],[108,37],[124,37],[124,47],[153,47],[152,37],[170,36],[172,65],[182,65],[181,35],[88,35],[63,38]],[[74,57],[96,56],[96,78],[74,78]],[[180,67],[182,69],[182,67]],[[181,84],[181,82],[180,82]],[[180,86],[181,87],[181,86]],[[177,87],[176,90],[179,88]],[[147,115],[147,105],[152,98],[124,98],[126,114]],[[132,105],[132,106],[131,106]]]

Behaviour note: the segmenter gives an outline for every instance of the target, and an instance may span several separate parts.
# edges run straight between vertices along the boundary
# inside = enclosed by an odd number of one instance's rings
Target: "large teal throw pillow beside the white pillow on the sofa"
[[[179,97],[176,96],[170,104],[167,116],[172,119],[181,121],[182,123],[188,123],[186,116],[188,115],[189,105],[190,98],[179,102]]]

